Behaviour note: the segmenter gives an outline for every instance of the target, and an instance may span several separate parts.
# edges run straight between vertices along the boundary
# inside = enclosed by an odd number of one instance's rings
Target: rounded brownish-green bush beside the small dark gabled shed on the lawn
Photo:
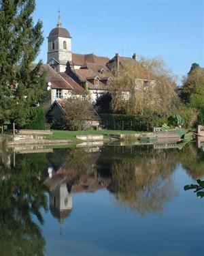
[[[92,106],[84,100],[64,100],[63,109],[63,118],[68,130],[84,130],[84,122],[95,115]]]

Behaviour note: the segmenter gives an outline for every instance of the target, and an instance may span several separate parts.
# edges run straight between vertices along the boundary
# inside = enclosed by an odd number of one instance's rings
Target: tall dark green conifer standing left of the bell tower
[[[46,97],[41,62],[32,63],[43,42],[42,23],[33,25],[35,0],[0,0],[0,123],[24,127]]]

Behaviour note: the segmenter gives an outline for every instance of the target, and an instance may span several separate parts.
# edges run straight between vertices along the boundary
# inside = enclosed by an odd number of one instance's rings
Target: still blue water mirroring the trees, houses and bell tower
[[[204,255],[196,145],[0,149],[0,255]]]

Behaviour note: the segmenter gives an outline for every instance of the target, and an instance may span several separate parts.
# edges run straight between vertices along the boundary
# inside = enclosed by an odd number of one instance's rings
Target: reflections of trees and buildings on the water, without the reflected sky
[[[44,255],[42,212],[50,208],[62,226],[72,214],[75,193],[106,189],[121,207],[141,215],[162,212],[177,196],[173,180],[177,165],[197,179],[204,175],[203,160],[202,150],[193,144],[182,150],[154,145],[55,149],[41,154],[0,150],[1,253]]]

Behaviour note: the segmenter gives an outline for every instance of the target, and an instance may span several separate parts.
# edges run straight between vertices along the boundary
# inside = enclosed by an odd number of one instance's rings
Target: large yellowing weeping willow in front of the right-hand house
[[[127,115],[168,116],[175,100],[175,76],[160,59],[141,59],[112,81],[114,111]]]

